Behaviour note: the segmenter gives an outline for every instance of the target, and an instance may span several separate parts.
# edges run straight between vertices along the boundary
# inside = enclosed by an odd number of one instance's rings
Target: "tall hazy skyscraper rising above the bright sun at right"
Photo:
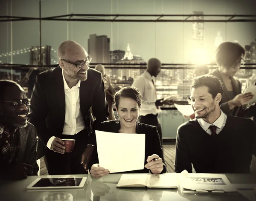
[[[204,15],[202,11],[193,11],[193,14]],[[193,20],[204,20],[204,16],[193,16]],[[204,22],[193,22],[192,23],[192,41],[193,46],[203,47],[204,46]]]

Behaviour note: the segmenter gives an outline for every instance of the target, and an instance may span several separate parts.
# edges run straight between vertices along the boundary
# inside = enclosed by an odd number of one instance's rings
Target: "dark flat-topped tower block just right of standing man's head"
[[[88,54],[92,57],[91,63],[109,63],[110,39],[106,35],[90,34],[88,39]]]

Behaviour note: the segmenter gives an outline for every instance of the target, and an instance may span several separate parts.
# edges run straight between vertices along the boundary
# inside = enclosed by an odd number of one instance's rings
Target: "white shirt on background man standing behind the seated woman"
[[[140,109],[140,115],[145,116],[148,114],[156,115],[161,112],[161,109],[157,109],[156,106],[156,89],[152,83],[153,77],[145,71],[142,75],[134,80],[132,86],[139,89],[142,95],[142,103]]]

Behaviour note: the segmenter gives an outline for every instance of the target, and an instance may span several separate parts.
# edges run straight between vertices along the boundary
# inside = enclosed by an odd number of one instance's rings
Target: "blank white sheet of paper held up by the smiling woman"
[[[95,133],[100,167],[110,173],[144,169],[145,134]]]

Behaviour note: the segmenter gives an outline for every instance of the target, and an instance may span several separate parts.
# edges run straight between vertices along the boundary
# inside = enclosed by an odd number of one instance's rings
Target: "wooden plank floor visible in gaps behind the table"
[[[163,157],[166,161],[167,172],[174,172],[175,144],[163,145]],[[40,159],[40,175],[48,175],[44,157]]]

